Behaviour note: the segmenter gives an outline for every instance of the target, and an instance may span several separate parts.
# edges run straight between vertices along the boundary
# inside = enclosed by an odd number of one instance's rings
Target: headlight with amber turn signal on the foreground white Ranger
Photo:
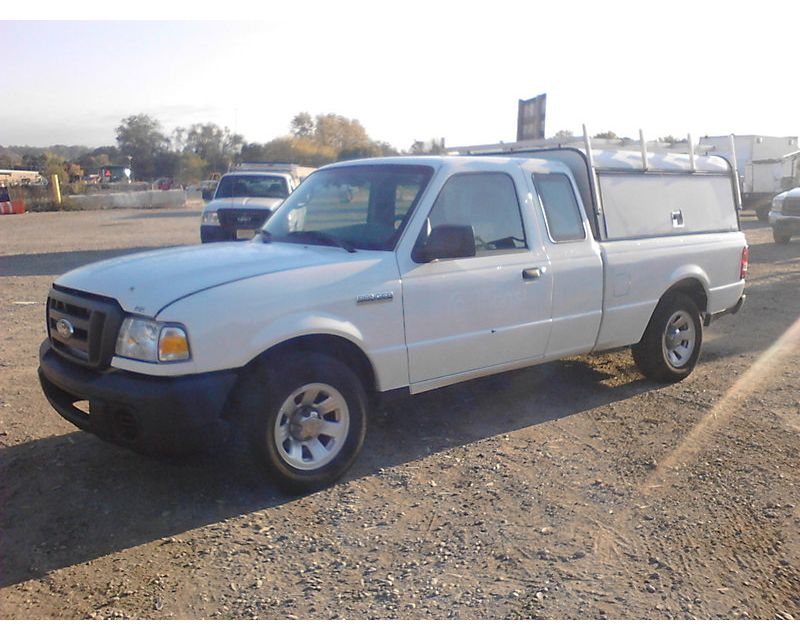
[[[179,362],[191,357],[185,329],[134,317],[122,322],[116,353],[144,362]]]

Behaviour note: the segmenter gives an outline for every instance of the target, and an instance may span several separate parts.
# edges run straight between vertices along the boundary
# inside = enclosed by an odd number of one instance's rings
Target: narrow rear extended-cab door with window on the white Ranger
[[[603,309],[603,260],[575,185],[566,173],[532,173],[535,198],[544,214],[553,277],[553,324],[548,358],[591,351]]]

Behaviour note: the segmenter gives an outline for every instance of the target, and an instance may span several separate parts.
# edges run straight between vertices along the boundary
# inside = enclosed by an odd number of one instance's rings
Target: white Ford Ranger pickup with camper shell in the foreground
[[[328,166],[251,242],[58,278],[42,387],[67,420],[140,451],[243,430],[302,491],[351,465],[384,392],[626,345],[645,376],[681,380],[704,324],[741,306],[748,251],[725,161],[650,155]]]

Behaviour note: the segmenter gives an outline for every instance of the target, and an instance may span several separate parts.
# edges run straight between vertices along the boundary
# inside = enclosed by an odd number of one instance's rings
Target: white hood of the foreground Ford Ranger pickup
[[[198,291],[255,276],[338,263],[336,247],[223,242],[159,249],[89,264],[55,284],[117,300],[125,311],[156,317],[170,303]]]

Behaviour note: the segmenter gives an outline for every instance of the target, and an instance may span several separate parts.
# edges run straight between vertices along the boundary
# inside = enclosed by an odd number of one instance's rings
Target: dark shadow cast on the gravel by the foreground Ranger
[[[396,400],[341,483],[655,388],[611,377],[566,360]],[[0,449],[0,587],[292,499],[235,447],[171,463],[73,431]]]

